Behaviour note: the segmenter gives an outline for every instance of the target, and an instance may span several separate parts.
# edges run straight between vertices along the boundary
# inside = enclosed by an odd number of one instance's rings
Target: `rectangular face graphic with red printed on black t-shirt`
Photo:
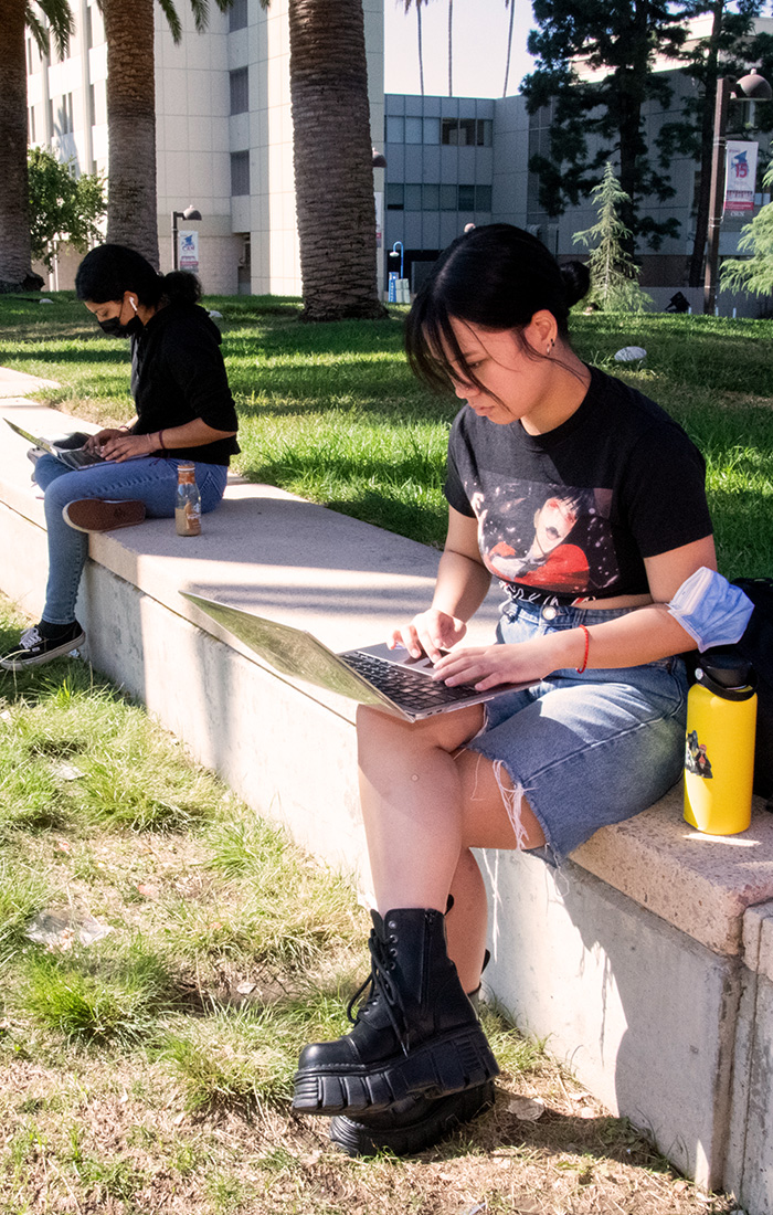
[[[507,583],[542,594],[591,597],[619,575],[611,490],[504,481],[489,493],[466,485],[484,564]]]

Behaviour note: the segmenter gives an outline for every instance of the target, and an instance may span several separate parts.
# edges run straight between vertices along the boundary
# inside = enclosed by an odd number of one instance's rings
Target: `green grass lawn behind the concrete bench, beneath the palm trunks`
[[[128,343],[107,339],[72,294],[0,296],[0,366],[58,380],[52,405],[92,420],[131,412]],[[456,399],[431,397],[402,357],[402,316],[298,324],[298,301],[213,299],[241,418],[235,468],[425,543],[441,544],[442,477]],[[773,572],[773,321],[579,315],[579,354],[654,397],[706,457],[720,567]],[[641,371],[614,352],[648,351]]]

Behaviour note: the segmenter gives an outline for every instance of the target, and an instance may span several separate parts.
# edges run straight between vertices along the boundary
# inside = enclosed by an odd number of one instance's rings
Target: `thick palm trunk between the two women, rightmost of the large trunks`
[[[303,318],[383,316],[361,0],[289,0],[289,43]]]

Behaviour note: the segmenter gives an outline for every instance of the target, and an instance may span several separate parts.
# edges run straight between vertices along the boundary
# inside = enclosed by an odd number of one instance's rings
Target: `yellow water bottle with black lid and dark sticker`
[[[755,676],[732,649],[706,651],[699,661],[687,697],[684,818],[707,835],[737,835],[751,823]]]

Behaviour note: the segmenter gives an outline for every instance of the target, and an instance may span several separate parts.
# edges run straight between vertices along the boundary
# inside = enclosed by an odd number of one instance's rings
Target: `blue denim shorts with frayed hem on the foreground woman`
[[[600,625],[632,609],[588,610],[507,603],[497,640],[525,642],[555,629]],[[559,864],[598,827],[630,819],[667,792],[684,762],[687,672],[681,657],[609,671],[554,671],[525,691],[485,706],[467,747],[504,768],[503,793],[518,833],[523,795]]]

